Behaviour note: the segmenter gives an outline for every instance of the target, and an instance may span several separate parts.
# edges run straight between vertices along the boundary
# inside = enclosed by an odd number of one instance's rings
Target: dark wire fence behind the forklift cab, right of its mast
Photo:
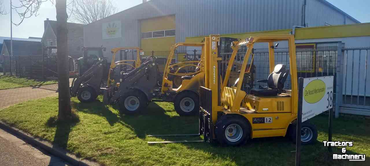
[[[296,48],[296,63],[298,77],[317,77],[317,76],[334,76],[336,77],[336,61],[337,61],[337,46],[316,47],[316,48]],[[231,75],[229,77],[228,86],[233,86],[236,79],[239,77],[239,70],[241,69],[246,50],[239,50],[234,63]],[[227,68],[229,58],[232,52],[221,52],[223,57],[222,63],[223,71]],[[250,64],[252,57],[253,62]],[[227,62],[227,63],[226,63]],[[275,65],[284,64],[286,69],[290,69],[289,63],[289,49],[276,48],[275,49]],[[249,56],[248,65],[251,66],[249,76],[243,80],[243,90],[249,91],[252,87],[265,87],[267,83],[257,82],[258,80],[267,79],[270,74],[269,67],[269,50],[268,49],[253,49],[252,55]],[[249,66],[247,66],[249,68]],[[249,78],[250,77],[250,78]],[[335,84],[335,81],[334,81]],[[288,75],[285,82],[285,89],[291,88],[291,77]],[[335,91],[335,89],[334,89]]]

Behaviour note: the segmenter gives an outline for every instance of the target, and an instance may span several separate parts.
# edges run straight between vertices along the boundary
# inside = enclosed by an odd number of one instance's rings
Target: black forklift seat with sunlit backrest
[[[250,94],[255,96],[277,96],[282,93],[284,83],[289,75],[289,69],[286,70],[286,66],[283,64],[277,64],[273,72],[269,75],[267,80],[268,88],[252,88]],[[259,80],[260,82],[263,82]]]

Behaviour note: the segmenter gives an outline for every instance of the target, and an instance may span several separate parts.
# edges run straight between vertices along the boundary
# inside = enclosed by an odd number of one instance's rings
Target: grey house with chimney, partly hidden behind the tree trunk
[[[83,51],[80,48],[84,46],[84,24],[67,23],[68,28],[68,56],[73,59],[80,58]],[[44,21],[44,34],[41,40],[43,52],[46,46],[57,46],[57,21]]]

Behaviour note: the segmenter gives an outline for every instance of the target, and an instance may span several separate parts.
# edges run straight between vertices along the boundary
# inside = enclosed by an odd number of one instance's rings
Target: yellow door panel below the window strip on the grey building
[[[169,51],[175,42],[175,37],[141,39],[141,49],[144,51]]]

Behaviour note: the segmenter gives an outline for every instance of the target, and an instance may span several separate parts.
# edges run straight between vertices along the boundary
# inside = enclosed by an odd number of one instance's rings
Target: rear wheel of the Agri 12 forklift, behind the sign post
[[[301,144],[311,144],[317,140],[317,129],[316,126],[310,124],[309,122],[303,122],[301,126]],[[297,124],[292,123],[289,127],[289,137],[290,140],[296,143],[296,135],[297,135]],[[311,135],[311,136],[309,136]]]

